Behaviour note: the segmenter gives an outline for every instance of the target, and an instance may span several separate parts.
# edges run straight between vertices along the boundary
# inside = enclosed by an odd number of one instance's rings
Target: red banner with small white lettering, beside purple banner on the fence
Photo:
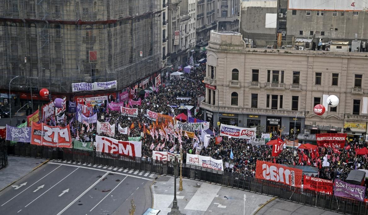
[[[311,176],[303,176],[303,188],[307,190],[318,191],[321,193],[326,193],[332,195],[333,181],[315,178]]]

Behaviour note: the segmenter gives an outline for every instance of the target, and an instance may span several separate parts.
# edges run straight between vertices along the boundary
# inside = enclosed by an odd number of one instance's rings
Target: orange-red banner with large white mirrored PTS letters
[[[60,127],[32,122],[31,144],[71,148],[72,144],[69,125],[66,127]]]

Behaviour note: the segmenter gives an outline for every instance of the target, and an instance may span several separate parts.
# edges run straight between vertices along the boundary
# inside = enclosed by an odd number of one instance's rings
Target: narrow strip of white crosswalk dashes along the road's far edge
[[[78,163],[73,161],[64,161],[64,160],[53,160],[60,163],[68,163],[68,164],[74,164],[74,165],[80,165],[80,166],[90,166],[91,168],[96,169],[104,169],[104,171],[112,171],[112,172],[124,172],[126,174],[131,175],[137,175],[139,177],[146,177],[146,178],[155,178],[157,174],[151,173],[151,172],[142,172],[135,169],[125,169],[125,168],[118,168],[115,166],[105,166],[105,165],[94,165],[94,164],[88,164],[88,163]]]

